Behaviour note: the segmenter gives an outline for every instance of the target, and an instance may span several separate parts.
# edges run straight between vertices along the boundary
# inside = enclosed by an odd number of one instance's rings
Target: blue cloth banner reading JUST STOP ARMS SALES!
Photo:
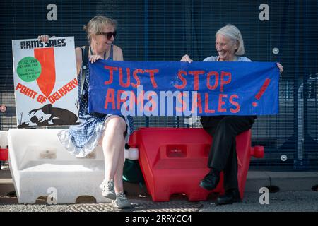
[[[273,62],[90,64],[88,112],[131,116],[278,114]]]

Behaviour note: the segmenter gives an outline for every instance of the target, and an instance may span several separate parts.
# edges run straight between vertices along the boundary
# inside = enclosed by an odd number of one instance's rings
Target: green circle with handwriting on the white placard
[[[16,72],[23,81],[32,82],[39,78],[41,70],[41,64],[37,59],[34,57],[24,57],[18,62]]]

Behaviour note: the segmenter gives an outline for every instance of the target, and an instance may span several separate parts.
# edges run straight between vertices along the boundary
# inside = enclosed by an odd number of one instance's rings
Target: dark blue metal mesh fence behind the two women
[[[57,20],[47,20],[47,6],[57,6]],[[184,54],[201,61],[216,55],[214,35],[227,23],[237,26],[245,40],[246,57],[279,61],[284,66],[276,116],[258,117],[252,145],[264,145],[264,159],[250,168],[261,170],[318,169],[318,28],[317,1],[266,1],[269,20],[257,0],[161,1],[19,0],[0,3],[0,129],[16,127],[11,40],[47,34],[74,36],[86,44],[82,28],[96,14],[119,22],[115,44],[131,61],[179,61]],[[141,126],[200,127],[184,124],[184,117],[135,117]]]

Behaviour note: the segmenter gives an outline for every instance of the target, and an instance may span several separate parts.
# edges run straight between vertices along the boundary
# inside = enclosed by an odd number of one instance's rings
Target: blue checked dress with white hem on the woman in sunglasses
[[[113,47],[110,49],[110,57],[107,60],[112,61]],[[78,75],[78,87],[81,87],[81,74],[83,69]],[[58,133],[59,140],[66,150],[75,155],[76,157],[86,157],[90,154],[98,145],[98,142],[102,138],[102,133],[105,130],[105,120],[110,117],[111,114],[106,116],[96,117],[92,114],[88,114],[88,81],[90,73],[87,65],[85,83],[83,85],[83,92],[86,98],[81,97],[80,90],[78,89],[79,100],[79,119],[81,124],[70,126],[69,129],[62,130]],[[129,135],[134,131],[134,121],[131,116],[124,117],[126,121],[127,133],[125,136],[125,143],[128,143]]]

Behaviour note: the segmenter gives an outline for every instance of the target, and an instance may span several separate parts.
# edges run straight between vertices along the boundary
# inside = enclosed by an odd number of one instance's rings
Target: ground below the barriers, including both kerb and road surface
[[[76,204],[69,205],[47,205],[46,197],[40,197],[33,205],[18,204],[17,198],[12,196],[14,186],[10,172],[0,170],[0,212],[318,212],[317,185],[318,172],[250,171],[242,203],[217,206],[215,204],[217,196],[213,194],[207,201],[189,202],[187,196],[173,195],[169,202],[155,203],[147,194],[146,187],[125,182],[124,187],[132,208],[118,210],[110,203],[95,203],[95,199],[88,196],[79,197]],[[266,186],[269,187],[269,191],[274,192],[259,193],[259,189]],[[260,203],[260,199],[264,204]]]

